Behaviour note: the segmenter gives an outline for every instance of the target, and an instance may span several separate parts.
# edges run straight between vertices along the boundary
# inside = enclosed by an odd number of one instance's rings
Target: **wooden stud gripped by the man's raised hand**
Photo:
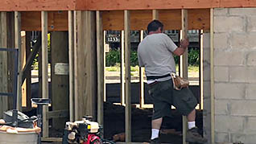
[[[187,39],[188,38],[188,10],[181,10],[181,23],[182,23],[182,29],[181,29],[181,39]],[[184,52],[182,56],[180,56],[180,75],[184,77],[185,79],[188,79],[188,48]],[[188,121],[186,116],[182,116],[182,125],[183,125],[183,144],[186,142],[186,134],[187,134],[187,127],[188,127]]]

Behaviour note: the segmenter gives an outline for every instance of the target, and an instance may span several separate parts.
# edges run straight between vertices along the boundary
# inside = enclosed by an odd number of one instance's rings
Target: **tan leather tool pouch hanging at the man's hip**
[[[178,76],[174,72],[171,72],[171,79],[173,82],[173,88],[175,88],[176,90],[186,88],[189,85],[189,81],[187,79]]]

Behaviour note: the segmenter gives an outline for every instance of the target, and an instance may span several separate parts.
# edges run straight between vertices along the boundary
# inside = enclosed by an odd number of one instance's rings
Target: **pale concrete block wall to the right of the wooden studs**
[[[214,9],[215,142],[256,143],[256,8]]]

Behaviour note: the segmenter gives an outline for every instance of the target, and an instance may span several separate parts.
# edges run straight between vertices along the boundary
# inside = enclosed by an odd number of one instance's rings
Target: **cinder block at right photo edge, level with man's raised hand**
[[[256,32],[232,33],[229,43],[233,51],[251,51],[256,46]]]

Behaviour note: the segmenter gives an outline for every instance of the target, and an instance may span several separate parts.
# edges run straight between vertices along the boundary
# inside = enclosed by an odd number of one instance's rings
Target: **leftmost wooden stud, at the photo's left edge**
[[[0,12],[0,47],[7,48],[7,15],[6,12]],[[0,51],[0,92],[8,92],[8,57],[6,51]],[[8,97],[0,96],[0,117],[3,112],[8,110]]]

